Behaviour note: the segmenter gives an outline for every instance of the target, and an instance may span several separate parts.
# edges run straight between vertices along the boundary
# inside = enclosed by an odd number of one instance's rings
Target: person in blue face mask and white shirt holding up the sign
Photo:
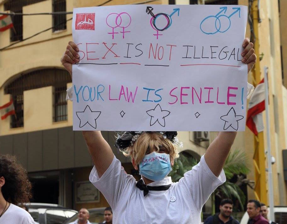
[[[250,71],[256,62],[253,44],[246,38],[242,46],[242,62]],[[61,58],[71,76],[78,51],[70,41]],[[100,131],[83,131],[94,163],[89,179],[110,204],[114,223],[201,223],[203,205],[226,180],[222,167],[236,133],[219,132],[200,163],[173,183],[167,175],[179,156],[176,131],[127,131],[118,136],[115,146],[131,157],[142,176],[138,182],[121,167]]]

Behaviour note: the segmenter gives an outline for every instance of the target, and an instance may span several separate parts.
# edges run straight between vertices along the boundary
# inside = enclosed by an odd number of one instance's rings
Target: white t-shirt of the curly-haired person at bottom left
[[[0,217],[0,224],[34,224],[34,220],[26,210],[10,204]]]

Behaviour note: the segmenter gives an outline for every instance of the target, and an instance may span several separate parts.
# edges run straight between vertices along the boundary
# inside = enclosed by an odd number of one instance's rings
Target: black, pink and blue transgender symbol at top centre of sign
[[[152,8],[151,6],[148,6],[148,7],[146,8],[146,13],[148,13],[148,14],[151,15],[151,18],[150,18],[149,23],[150,23],[151,27],[152,27],[154,30],[156,30],[156,34],[154,34],[154,36],[156,36],[156,39],[158,39],[158,36],[159,36],[159,35],[162,35],[162,34],[159,34],[159,31],[166,30],[166,29],[168,29],[168,28],[172,25],[172,15],[173,15],[174,13],[177,13],[177,16],[179,16],[179,8],[174,8],[174,9],[173,9],[173,12],[172,12],[170,15],[168,15],[168,14],[166,14],[166,13],[157,13],[157,14],[154,14],[154,13],[152,12],[153,9],[154,9],[154,8]],[[163,19],[163,20],[164,20],[163,24],[161,23],[160,25],[156,25],[155,21],[156,21],[156,19],[158,19],[159,17],[163,17],[163,18],[165,18],[166,20]],[[160,27],[160,26],[161,26],[161,27]]]

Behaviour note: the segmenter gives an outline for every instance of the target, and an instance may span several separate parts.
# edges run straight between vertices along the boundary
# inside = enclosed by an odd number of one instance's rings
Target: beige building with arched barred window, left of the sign
[[[0,0],[0,12],[71,12],[76,7],[135,3],[141,1]],[[168,4],[166,1],[149,3]],[[14,16],[16,32],[13,29],[0,32],[0,105],[12,98],[16,110],[16,116],[0,121],[0,153],[16,155],[28,170],[33,183],[32,201],[77,210],[83,206],[105,207],[108,203],[100,193],[88,203],[77,197],[77,192],[88,182],[92,161],[82,133],[72,131],[72,103],[65,101],[65,90],[71,86],[71,79],[60,58],[72,40],[70,18],[72,14]],[[24,40],[52,26],[53,29]],[[24,41],[17,43],[18,40]],[[8,45],[11,46],[6,48]],[[199,134],[205,141],[197,141],[199,136],[194,140],[193,132],[179,133],[184,144],[182,151],[197,159],[209,144],[206,141],[209,137],[204,137],[203,132]],[[114,135],[114,132],[103,132],[111,146]],[[126,172],[137,177],[130,160],[115,147],[113,151]]]

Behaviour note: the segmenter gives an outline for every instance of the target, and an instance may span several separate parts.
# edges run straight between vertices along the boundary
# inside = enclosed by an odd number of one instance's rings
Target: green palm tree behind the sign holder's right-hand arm
[[[191,170],[197,163],[198,161],[194,157],[189,156],[187,152],[180,153],[180,157],[174,162],[172,171],[169,174],[172,177],[172,181],[177,182],[183,177],[185,172]],[[215,190],[215,195],[220,198],[231,198],[238,201],[241,211],[244,211],[243,205],[245,204],[246,197],[239,186],[243,184],[243,178],[241,177],[250,171],[245,152],[240,150],[230,152],[224,163],[223,170],[226,182]],[[237,177],[236,183],[230,181],[234,176]],[[246,184],[246,180],[244,182]]]

